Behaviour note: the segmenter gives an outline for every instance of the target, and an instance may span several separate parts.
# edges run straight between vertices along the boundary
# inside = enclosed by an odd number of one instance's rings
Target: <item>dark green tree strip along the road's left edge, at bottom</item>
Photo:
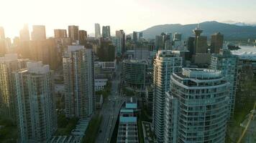
[[[88,127],[86,129],[86,136],[83,137],[82,142],[95,142],[97,134],[99,132],[99,127],[101,125],[102,115],[96,114],[93,116],[91,121],[88,124]]]

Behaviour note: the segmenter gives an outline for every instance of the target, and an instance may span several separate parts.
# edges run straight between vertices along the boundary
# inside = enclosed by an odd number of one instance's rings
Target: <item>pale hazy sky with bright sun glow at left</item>
[[[53,29],[94,32],[94,24],[111,26],[129,34],[157,24],[194,24],[203,21],[255,23],[255,0],[0,0],[0,26],[6,36],[19,36],[24,24]]]

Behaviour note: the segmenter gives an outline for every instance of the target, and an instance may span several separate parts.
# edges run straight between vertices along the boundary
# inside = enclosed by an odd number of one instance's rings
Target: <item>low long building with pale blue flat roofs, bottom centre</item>
[[[116,143],[139,143],[137,127],[137,102],[132,98],[119,112],[119,127]]]

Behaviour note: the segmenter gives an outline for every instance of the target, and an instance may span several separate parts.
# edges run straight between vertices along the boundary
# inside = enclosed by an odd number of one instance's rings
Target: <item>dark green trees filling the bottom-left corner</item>
[[[18,139],[18,129],[12,121],[0,119],[0,142],[1,143],[16,143]]]

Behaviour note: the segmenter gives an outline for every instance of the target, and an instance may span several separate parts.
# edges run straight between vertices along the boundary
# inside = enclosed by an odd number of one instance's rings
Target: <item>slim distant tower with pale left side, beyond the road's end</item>
[[[116,40],[120,41],[119,44],[116,45],[117,54],[124,54],[125,51],[125,33],[124,30],[116,31]]]

